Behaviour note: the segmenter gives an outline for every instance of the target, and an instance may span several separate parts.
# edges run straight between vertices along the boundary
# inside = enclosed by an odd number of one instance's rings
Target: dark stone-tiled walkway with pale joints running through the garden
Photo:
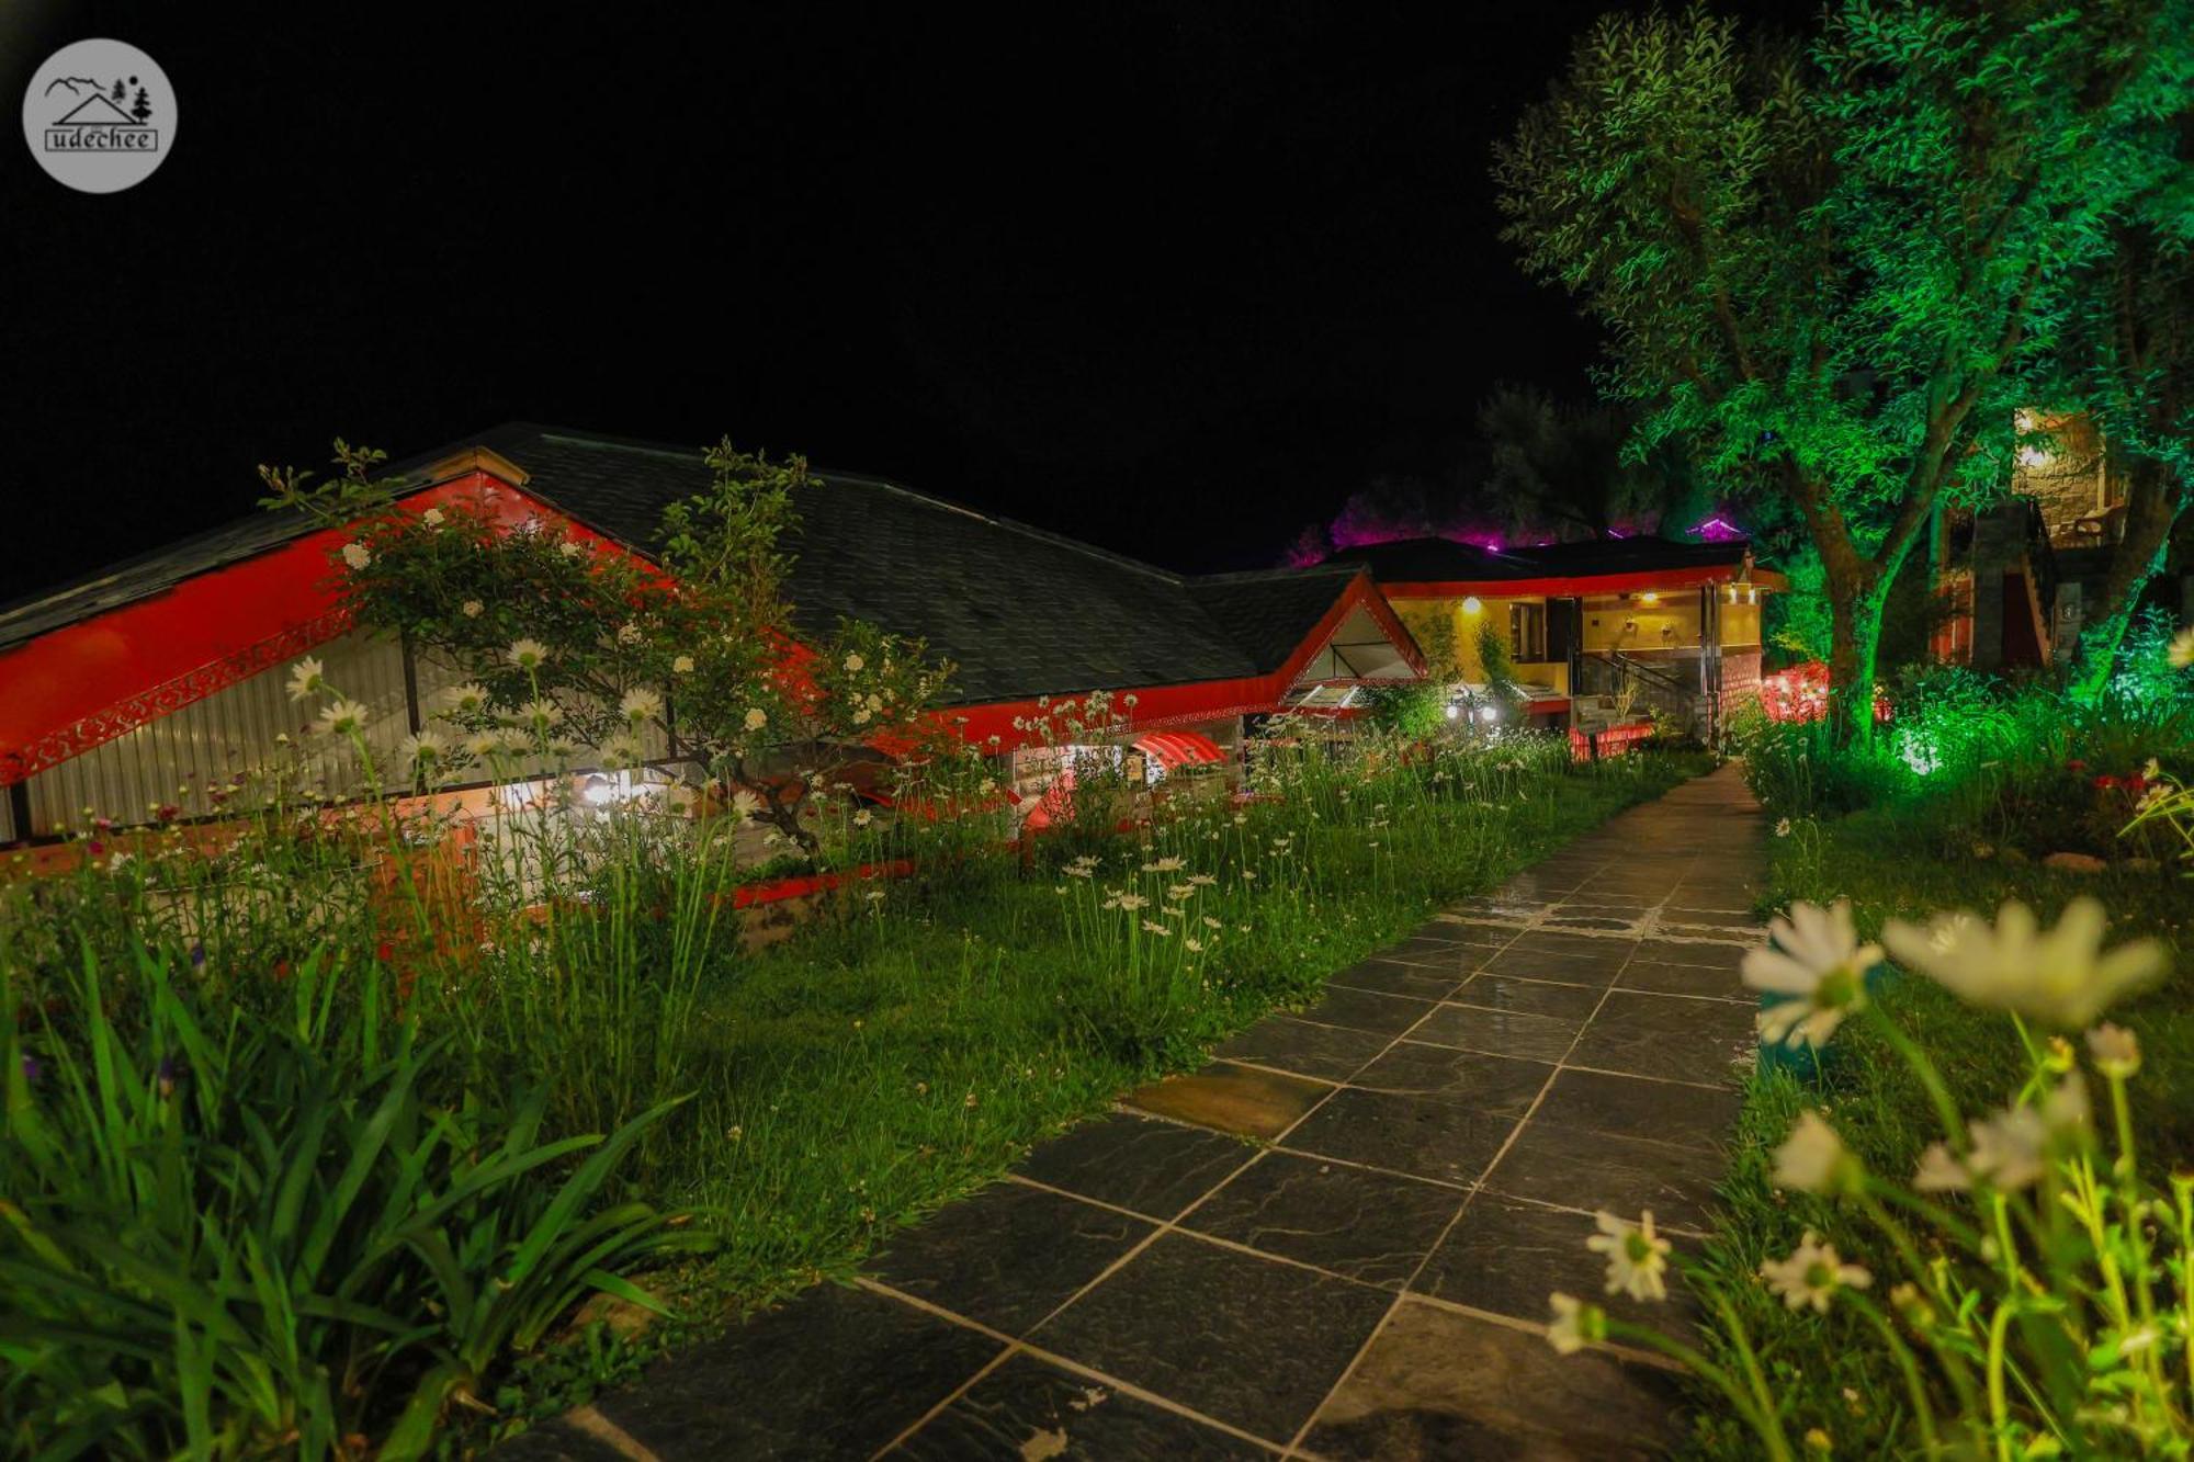
[[[1540,1326],[1593,1210],[1705,1232],[1762,836],[1735,768],[1624,812],[498,1455],[1650,1453],[1672,1376]]]

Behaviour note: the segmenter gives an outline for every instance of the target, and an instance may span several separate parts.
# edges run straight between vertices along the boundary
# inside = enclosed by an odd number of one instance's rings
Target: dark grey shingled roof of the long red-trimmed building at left
[[[709,487],[700,448],[533,424],[423,452],[391,474],[472,446],[522,468],[529,494],[641,553],[656,547],[665,505]],[[959,667],[959,702],[1264,676],[1286,663],[1356,577],[1354,566],[1185,577],[842,472],[818,474],[794,505],[801,531],[788,544],[788,593],[796,628],[814,632],[847,617],[921,637]],[[259,514],[0,608],[0,648],[309,529],[296,516]]]

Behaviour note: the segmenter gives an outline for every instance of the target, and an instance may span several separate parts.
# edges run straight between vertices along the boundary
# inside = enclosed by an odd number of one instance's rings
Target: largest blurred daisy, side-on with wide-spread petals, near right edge
[[[2062,1030],[2089,1025],[2122,994],[2163,975],[2163,946],[2135,940],[2102,953],[2106,915],[2095,898],[2076,898],[2043,933],[2034,911],[2008,902],[1994,926],[1970,913],[1937,915],[1918,929],[1891,920],[1882,942],[1898,964],[1948,986],[1972,1005],[2014,1010]]]

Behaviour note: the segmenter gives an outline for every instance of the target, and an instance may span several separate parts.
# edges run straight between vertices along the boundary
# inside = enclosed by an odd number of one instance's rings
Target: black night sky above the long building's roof
[[[257,461],[511,417],[1259,566],[1496,380],[1586,389],[1485,173],[1604,4],[327,9],[0,18],[9,97],[112,35],[180,105],[105,198],[0,138],[0,601],[252,511]]]

